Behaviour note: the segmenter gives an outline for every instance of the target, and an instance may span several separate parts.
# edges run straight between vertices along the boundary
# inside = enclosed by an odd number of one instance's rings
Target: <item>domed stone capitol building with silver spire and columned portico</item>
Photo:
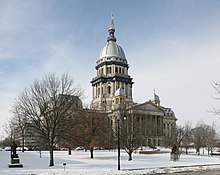
[[[167,145],[174,134],[177,118],[171,108],[160,105],[160,98],[155,92],[153,98],[144,103],[134,102],[134,81],[129,75],[125,52],[117,43],[113,18],[95,69],[96,75],[91,80],[91,109],[106,113],[113,128],[119,118],[132,117],[135,127],[142,134],[142,145]]]

